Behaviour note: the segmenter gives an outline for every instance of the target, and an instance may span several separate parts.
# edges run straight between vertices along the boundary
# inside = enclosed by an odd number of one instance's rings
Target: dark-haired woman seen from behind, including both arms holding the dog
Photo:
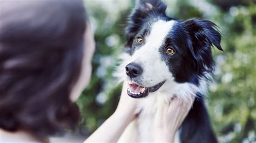
[[[90,80],[95,42],[83,2],[0,2],[0,142],[49,142],[77,125],[74,102]],[[156,141],[173,141],[191,108],[171,102],[158,109]],[[116,142],[135,109],[123,90],[117,110],[85,142]]]

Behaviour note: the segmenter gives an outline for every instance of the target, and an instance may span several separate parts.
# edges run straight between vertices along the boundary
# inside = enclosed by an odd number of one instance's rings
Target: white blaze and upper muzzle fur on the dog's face
[[[142,44],[137,43],[130,62],[143,69],[143,73],[135,80],[140,85],[153,87],[160,82],[171,80],[172,74],[161,58],[159,48],[165,42],[166,35],[171,31],[174,22],[174,20],[169,22],[158,20],[151,24],[150,31],[147,31],[149,35],[145,37],[138,35],[136,38],[136,40],[142,38]],[[130,80],[130,77],[127,77]]]

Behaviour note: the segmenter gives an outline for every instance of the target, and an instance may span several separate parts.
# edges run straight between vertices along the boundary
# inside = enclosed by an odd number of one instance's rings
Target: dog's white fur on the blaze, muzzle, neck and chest
[[[123,54],[123,63],[119,66],[116,76],[123,81],[129,80],[125,74],[125,66],[135,62],[142,66],[141,84],[145,87],[152,87],[159,82],[166,81],[156,92],[152,92],[146,98],[138,99],[137,111],[140,112],[137,120],[134,120],[124,131],[119,142],[152,142],[154,141],[154,117],[157,107],[163,102],[169,101],[176,95],[181,99],[191,99],[196,91],[206,93],[208,83],[203,78],[200,80],[200,86],[197,87],[191,83],[177,83],[170,73],[165,61],[161,59],[158,51],[161,44],[171,31],[175,21],[165,22],[158,20],[151,25],[151,32],[144,38],[145,45],[135,49],[132,56]],[[191,101],[192,104],[192,101]]]

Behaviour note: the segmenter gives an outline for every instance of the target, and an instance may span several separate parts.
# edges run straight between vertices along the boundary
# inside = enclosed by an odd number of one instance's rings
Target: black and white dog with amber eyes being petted
[[[127,94],[139,100],[140,115],[120,142],[153,141],[153,120],[163,101],[176,95],[189,98],[197,91],[192,109],[177,133],[180,142],[217,142],[204,104],[214,69],[211,46],[221,51],[221,35],[208,20],[167,17],[160,0],[137,1],[126,28],[129,56],[120,66]]]

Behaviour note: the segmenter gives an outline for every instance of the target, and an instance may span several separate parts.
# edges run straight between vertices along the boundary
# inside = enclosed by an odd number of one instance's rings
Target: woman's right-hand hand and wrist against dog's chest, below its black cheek
[[[173,97],[170,102],[161,104],[154,119],[155,141],[174,142],[174,137],[190,111],[195,95],[186,101]]]

